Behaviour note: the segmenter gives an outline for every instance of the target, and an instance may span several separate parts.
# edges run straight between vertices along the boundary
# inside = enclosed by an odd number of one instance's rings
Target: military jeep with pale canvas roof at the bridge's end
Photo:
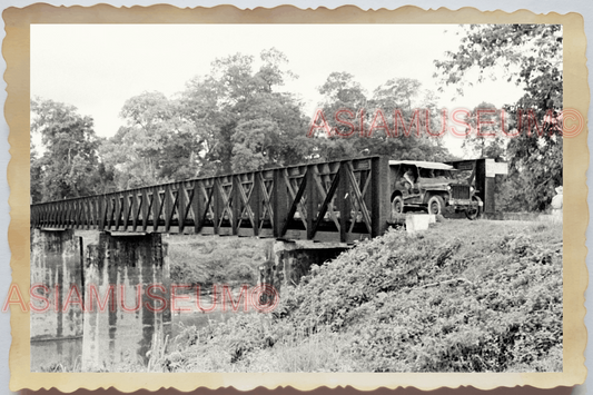
[[[392,215],[407,209],[423,209],[428,214],[445,210],[465,211],[468,219],[482,215],[482,199],[467,178],[453,166],[419,161],[389,160],[392,179]]]

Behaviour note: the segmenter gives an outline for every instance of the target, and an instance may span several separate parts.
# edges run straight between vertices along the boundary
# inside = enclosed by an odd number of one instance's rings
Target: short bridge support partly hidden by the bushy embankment
[[[307,240],[277,240],[269,246],[270,259],[259,267],[259,283],[266,283],[279,293],[283,285],[297,285],[310,273],[313,265],[323,265],[350,248],[342,243]]]

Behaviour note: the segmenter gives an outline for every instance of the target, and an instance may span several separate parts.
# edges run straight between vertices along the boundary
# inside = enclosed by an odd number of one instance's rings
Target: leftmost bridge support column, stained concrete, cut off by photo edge
[[[68,304],[69,293],[82,294],[82,240],[73,230],[31,229],[31,287],[43,295],[46,312],[31,312],[31,371],[56,364],[67,365],[80,355],[82,337],[81,304]],[[45,293],[47,287],[49,293]],[[79,300],[70,294],[70,302]],[[34,302],[34,300],[33,300]],[[43,308],[43,303],[34,303]]]

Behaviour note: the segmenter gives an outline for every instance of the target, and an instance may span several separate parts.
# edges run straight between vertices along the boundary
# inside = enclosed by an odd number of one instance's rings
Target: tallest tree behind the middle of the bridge
[[[279,91],[288,60],[276,49],[255,58],[234,55],[213,62],[209,76],[188,82],[184,117],[202,130],[202,174],[284,166],[306,159],[306,118],[290,93]]]

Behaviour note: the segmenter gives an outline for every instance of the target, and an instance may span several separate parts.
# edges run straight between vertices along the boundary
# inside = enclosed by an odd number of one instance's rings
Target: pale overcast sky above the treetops
[[[369,93],[392,78],[414,78],[436,91],[434,60],[458,48],[457,31],[455,24],[33,24],[31,96],[73,105],[109,137],[123,125],[127,99],[155,90],[170,97],[209,73],[216,58],[257,58],[275,47],[299,76],[285,89],[299,95],[313,117],[317,88],[333,71],[352,73]],[[438,93],[449,110],[482,101],[501,107],[522,95],[504,78],[467,87],[463,97],[454,88]],[[456,154],[459,146],[447,142]]]

